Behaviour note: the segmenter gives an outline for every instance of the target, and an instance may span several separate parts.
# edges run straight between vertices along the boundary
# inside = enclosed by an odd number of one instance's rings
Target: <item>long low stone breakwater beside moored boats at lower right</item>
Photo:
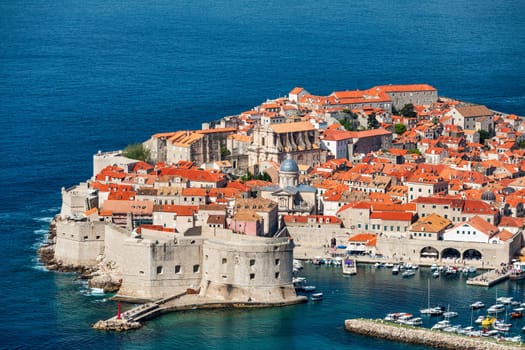
[[[486,338],[469,338],[459,335],[431,331],[423,328],[402,327],[382,320],[345,320],[345,330],[369,337],[387,339],[407,344],[430,346],[450,350],[509,350],[523,349],[515,343],[496,343]]]

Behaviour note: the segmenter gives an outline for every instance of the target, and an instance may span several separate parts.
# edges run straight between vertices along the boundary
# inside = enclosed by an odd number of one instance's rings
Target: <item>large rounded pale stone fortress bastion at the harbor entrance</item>
[[[230,235],[203,246],[201,295],[225,301],[282,302],[296,297],[287,238]]]

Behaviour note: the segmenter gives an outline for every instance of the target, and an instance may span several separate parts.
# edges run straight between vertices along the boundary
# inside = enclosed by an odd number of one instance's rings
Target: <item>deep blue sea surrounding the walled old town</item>
[[[115,334],[90,329],[115,303],[45,271],[36,249],[61,187],[89,178],[98,150],[200,128],[295,86],[428,83],[525,115],[524,13],[521,0],[0,0],[0,347],[419,349],[348,334],[343,321],[425,306],[424,270],[402,280],[308,266],[320,303],[170,314]],[[464,325],[465,305],[496,293],[462,277],[432,283]],[[498,286],[517,299],[523,289]]]

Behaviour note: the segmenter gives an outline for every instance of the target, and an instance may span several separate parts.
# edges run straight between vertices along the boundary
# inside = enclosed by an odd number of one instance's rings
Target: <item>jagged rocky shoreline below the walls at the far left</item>
[[[104,262],[103,259],[95,266],[82,266],[64,264],[61,260],[55,259],[56,245],[56,220],[54,217],[49,224],[47,242],[38,248],[39,261],[49,271],[75,272],[78,279],[88,280],[90,288],[100,288],[104,293],[117,292],[122,284],[122,277],[116,270],[116,266],[111,262]]]

